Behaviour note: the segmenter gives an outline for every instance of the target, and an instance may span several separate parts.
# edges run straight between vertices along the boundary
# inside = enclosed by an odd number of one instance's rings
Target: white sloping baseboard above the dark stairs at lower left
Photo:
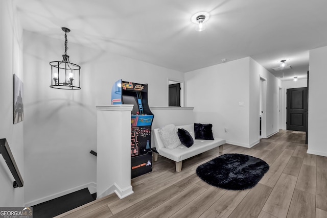
[[[37,205],[37,204],[40,204],[40,203],[43,203],[43,202],[46,202],[46,201],[50,201],[52,199],[59,198],[61,196],[67,195],[69,193],[72,193],[74,191],[78,191],[78,190],[81,190],[81,189],[84,189],[84,188],[88,188],[88,190],[89,190],[89,192],[91,194],[97,192],[97,184],[95,182],[90,182],[88,184],[84,184],[84,185],[80,185],[80,186],[77,186],[77,187],[74,187],[74,188],[71,188],[71,189],[67,189],[65,191],[61,191],[59,193],[55,193],[53,195],[46,196],[44,198],[40,198],[40,199],[37,199],[37,200],[34,200],[34,201],[26,202],[25,207],[31,207],[31,206],[34,206],[34,205]]]

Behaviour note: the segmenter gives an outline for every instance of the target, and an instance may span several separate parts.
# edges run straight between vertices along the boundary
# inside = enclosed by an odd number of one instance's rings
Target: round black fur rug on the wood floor
[[[268,163],[259,158],[244,154],[224,154],[198,166],[196,174],[213,186],[244,190],[254,187],[268,169]]]

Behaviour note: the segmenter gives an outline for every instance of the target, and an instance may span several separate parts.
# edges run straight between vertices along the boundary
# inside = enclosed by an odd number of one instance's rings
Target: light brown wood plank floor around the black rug
[[[175,163],[159,156],[153,171],[131,180],[134,193],[114,193],[57,217],[327,217],[327,157],[307,154],[305,132],[281,130],[251,149],[225,144],[223,154],[265,160],[269,171],[251,189],[217,188],[195,174],[218,148]]]

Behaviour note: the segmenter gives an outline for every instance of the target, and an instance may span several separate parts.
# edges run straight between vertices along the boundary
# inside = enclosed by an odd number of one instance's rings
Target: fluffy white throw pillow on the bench
[[[165,148],[175,149],[181,144],[177,131],[174,124],[169,124],[158,130],[160,139],[164,143]]]

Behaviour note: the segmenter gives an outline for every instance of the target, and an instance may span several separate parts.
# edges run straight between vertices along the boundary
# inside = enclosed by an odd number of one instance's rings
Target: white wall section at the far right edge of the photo
[[[327,156],[327,47],[310,50],[308,153]]]

